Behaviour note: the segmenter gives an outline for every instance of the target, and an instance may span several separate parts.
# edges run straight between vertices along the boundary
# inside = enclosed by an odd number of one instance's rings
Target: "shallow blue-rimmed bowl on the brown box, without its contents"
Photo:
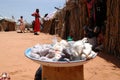
[[[72,67],[72,66],[80,66],[83,65],[85,63],[87,63],[88,61],[92,60],[76,60],[76,61],[56,61],[56,62],[50,62],[50,61],[40,61],[39,59],[33,58],[30,56],[31,53],[31,48],[28,48],[25,50],[25,56],[29,59],[31,59],[32,61],[39,63],[43,66],[52,66],[52,67]]]

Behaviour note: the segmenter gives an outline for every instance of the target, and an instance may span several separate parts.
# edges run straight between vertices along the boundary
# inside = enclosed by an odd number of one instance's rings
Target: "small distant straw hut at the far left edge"
[[[3,18],[0,20],[0,31],[15,31],[16,22]]]

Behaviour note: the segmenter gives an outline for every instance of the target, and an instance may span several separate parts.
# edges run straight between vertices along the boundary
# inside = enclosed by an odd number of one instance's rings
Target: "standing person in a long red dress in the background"
[[[36,12],[32,14],[32,16],[35,17],[35,23],[34,23],[34,35],[39,35],[40,32],[40,14],[39,9],[36,9]]]

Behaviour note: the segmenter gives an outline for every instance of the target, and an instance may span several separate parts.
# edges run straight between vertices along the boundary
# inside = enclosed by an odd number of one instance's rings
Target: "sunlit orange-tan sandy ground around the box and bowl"
[[[11,80],[34,80],[40,64],[24,55],[24,51],[38,43],[52,43],[53,36],[40,33],[0,32],[0,74],[7,72]],[[120,60],[99,53],[84,65],[85,80],[120,80]],[[67,79],[66,79],[67,80]]]

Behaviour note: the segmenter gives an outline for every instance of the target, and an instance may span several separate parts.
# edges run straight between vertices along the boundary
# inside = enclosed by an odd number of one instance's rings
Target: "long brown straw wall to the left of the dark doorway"
[[[72,35],[74,40],[81,39],[83,33],[80,32],[86,17],[84,6],[82,0],[70,0],[63,9],[56,8],[55,16],[44,21],[43,32],[58,34],[63,39],[67,39],[69,35]]]

